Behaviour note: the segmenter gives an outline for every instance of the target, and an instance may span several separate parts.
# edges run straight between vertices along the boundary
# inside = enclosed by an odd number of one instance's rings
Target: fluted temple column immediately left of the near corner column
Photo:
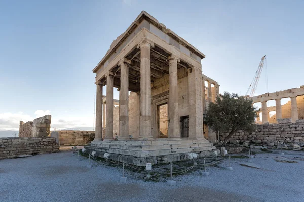
[[[129,66],[125,59],[119,62],[121,68],[119,91],[119,140],[129,138]]]

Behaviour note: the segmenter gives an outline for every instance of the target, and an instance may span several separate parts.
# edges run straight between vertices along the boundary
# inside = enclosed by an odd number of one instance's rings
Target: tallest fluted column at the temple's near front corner
[[[140,48],[140,135],[139,140],[151,140],[151,47],[154,43],[143,39]]]

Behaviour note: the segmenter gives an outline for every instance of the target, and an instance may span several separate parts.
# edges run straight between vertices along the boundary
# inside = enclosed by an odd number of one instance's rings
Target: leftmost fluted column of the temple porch
[[[96,82],[96,125],[94,141],[102,141],[102,87],[100,82]]]

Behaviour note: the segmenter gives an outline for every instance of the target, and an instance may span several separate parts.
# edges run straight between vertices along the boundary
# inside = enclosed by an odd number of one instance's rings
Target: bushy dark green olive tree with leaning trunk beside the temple
[[[224,140],[225,144],[237,130],[254,131],[256,115],[257,107],[253,106],[251,99],[224,92],[221,97],[216,97],[215,103],[209,103],[204,123],[217,132],[229,131],[229,136]]]

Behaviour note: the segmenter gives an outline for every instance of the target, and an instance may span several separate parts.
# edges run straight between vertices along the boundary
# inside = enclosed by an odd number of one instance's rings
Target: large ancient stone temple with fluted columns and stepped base
[[[189,159],[193,153],[198,157],[217,155],[203,135],[203,109],[207,103],[205,80],[208,101],[219,94],[219,85],[202,74],[203,58],[193,45],[142,11],[93,69],[96,134],[85,147],[87,152],[137,166]],[[114,87],[120,92],[117,135],[113,131]],[[163,105],[168,109],[167,138],[160,138]]]

